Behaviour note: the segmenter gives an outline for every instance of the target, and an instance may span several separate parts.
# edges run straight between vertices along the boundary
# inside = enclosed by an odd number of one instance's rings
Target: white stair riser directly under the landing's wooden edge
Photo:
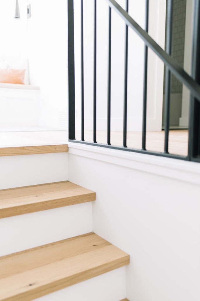
[[[0,157],[0,189],[68,180],[67,153]]]

